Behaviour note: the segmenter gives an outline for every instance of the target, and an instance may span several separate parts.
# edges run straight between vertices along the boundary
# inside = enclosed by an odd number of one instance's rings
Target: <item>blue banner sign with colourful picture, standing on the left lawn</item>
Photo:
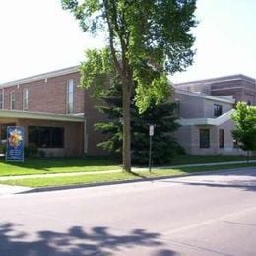
[[[24,161],[24,127],[7,127],[6,160]]]

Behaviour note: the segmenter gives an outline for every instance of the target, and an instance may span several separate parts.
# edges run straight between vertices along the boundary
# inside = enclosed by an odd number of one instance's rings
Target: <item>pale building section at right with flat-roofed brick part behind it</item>
[[[231,114],[237,101],[256,105],[256,83],[244,75],[175,85],[180,124],[177,140],[187,153],[238,155]]]

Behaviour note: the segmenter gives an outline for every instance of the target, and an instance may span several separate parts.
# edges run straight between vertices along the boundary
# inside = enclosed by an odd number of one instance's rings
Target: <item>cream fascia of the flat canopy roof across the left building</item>
[[[53,120],[66,122],[84,122],[84,116],[52,114],[41,112],[28,112],[19,110],[0,110],[0,118],[16,118],[16,119],[37,119],[37,120]]]

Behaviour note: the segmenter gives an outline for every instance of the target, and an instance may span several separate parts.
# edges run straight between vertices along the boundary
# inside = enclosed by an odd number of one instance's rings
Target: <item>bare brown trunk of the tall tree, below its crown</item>
[[[131,172],[131,88],[128,81],[123,83],[123,169]]]

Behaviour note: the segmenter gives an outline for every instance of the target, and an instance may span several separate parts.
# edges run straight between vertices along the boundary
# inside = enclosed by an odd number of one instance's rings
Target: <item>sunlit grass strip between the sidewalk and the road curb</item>
[[[200,167],[180,167],[180,168],[169,168],[169,169],[153,169],[152,173],[147,171],[137,171],[134,174],[128,174],[124,172],[117,173],[104,173],[101,174],[83,174],[80,176],[66,176],[66,177],[45,177],[42,178],[25,178],[17,180],[0,181],[2,184],[8,185],[19,185],[26,187],[53,187],[53,186],[64,186],[64,185],[78,185],[78,184],[91,184],[98,182],[107,181],[120,181],[120,180],[134,180],[141,179],[147,180],[147,178],[154,177],[165,177],[173,175],[185,175],[189,173],[195,173],[200,171],[220,170],[220,169],[232,169],[238,167],[252,167],[256,166],[256,163],[250,164],[226,164],[226,165],[215,165],[215,166],[200,166]]]

